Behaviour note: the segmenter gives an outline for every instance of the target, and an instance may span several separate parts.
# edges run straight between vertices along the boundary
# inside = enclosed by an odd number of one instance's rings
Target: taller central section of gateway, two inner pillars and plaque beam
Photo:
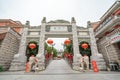
[[[77,33],[77,26],[76,21],[74,18],[71,19],[71,23],[64,20],[56,20],[56,21],[50,21],[46,22],[46,18],[43,19],[41,24],[41,32],[40,32],[40,42],[39,44],[41,47],[39,47],[39,53],[37,57],[40,59],[42,64],[44,64],[44,41],[47,37],[69,37],[73,40],[73,69],[76,69],[79,65],[76,63],[79,61],[81,55],[79,54],[79,45],[78,45],[78,33]]]

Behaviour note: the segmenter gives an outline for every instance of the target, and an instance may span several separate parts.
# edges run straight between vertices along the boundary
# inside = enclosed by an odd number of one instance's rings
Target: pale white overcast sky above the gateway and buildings
[[[0,18],[19,20],[32,26],[47,21],[75,17],[77,25],[86,27],[87,21],[96,22],[116,0],[0,0]]]

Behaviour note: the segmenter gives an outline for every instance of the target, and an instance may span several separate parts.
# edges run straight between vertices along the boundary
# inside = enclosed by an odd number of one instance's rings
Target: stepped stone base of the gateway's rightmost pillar
[[[103,59],[102,54],[97,54],[96,57],[92,57],[91,61],[95,60],[97,63],[98,69],[101,70],[106,70],[106,62]]]

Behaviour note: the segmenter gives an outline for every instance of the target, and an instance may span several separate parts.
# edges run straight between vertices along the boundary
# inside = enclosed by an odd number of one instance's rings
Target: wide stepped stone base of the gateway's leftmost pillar
[[[22,57],[22,58],[23,58],[23,57]],[[24,58],[26,59],[25,56],[24,56]],[[11,62],[9,71],[22,71],[22,70],[25,70],[26,62],[23,61],[23,60],[25,60],[25,59],[20,59],[20,55],[19,55],[19,54],[16,54],[16,55],[14,56],[13,61]]]

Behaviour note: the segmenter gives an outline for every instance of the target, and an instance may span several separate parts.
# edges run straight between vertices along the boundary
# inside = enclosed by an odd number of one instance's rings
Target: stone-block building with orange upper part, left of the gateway
[[[0,19],[0,66],[8,70],[18,53],[23,26],[19,21]]]

